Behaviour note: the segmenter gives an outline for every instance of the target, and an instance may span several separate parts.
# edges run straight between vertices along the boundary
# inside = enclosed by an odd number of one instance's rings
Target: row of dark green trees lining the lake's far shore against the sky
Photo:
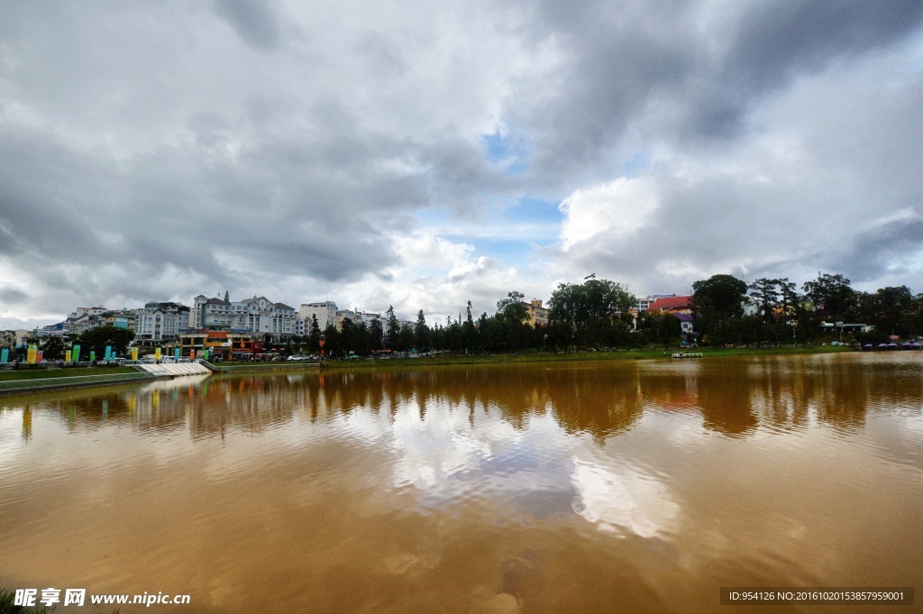
[[[842,274],[818,273],[800,288],[787,278],[761,278],[746,283],[733,275],[713,275],[692,284],[693,332],[684,335],[671,314],[634,312],[637,303],[628,286],[589,275],[581,283],[560,283],[547,303],[546,323],[530,324],[529,305],[518,291],[497,301],[493,315],[475,317],[471,301],[456,319],[430,324],[423,309],[413,324],[402,324],[389,307],[384,321],[356,323],[343,319],[339,328],[321,330],[313,318],[304,336],[282,343],[284,351],[335,357],[379,351],[450,352],[456,354],[567,351],[579,348],[639,348],[678,345],[809,343],[819,336],[821,321],[862,323],[871,331],[853,335],[860,343],[881,343],[891,335],[923,334],[923,295],[905,286],[874,293],[857,291]],[[134,333],[113,327],[92,329],[65,343],[51,338],[44,357],[64,356],[66,345],[80,343],[82,355],[102,356],[106,345],[126,355]],[[24,349],[21,349],[25,352]]]

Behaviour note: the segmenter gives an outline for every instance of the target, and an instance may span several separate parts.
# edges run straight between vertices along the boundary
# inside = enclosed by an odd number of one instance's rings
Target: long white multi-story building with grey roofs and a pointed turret
[[[249,332],[254,336],[270,335],[273,339],[297,332],[294,307],[273,303],[265,296],[231,302],[198,295],[193,301],[190,329]]]

